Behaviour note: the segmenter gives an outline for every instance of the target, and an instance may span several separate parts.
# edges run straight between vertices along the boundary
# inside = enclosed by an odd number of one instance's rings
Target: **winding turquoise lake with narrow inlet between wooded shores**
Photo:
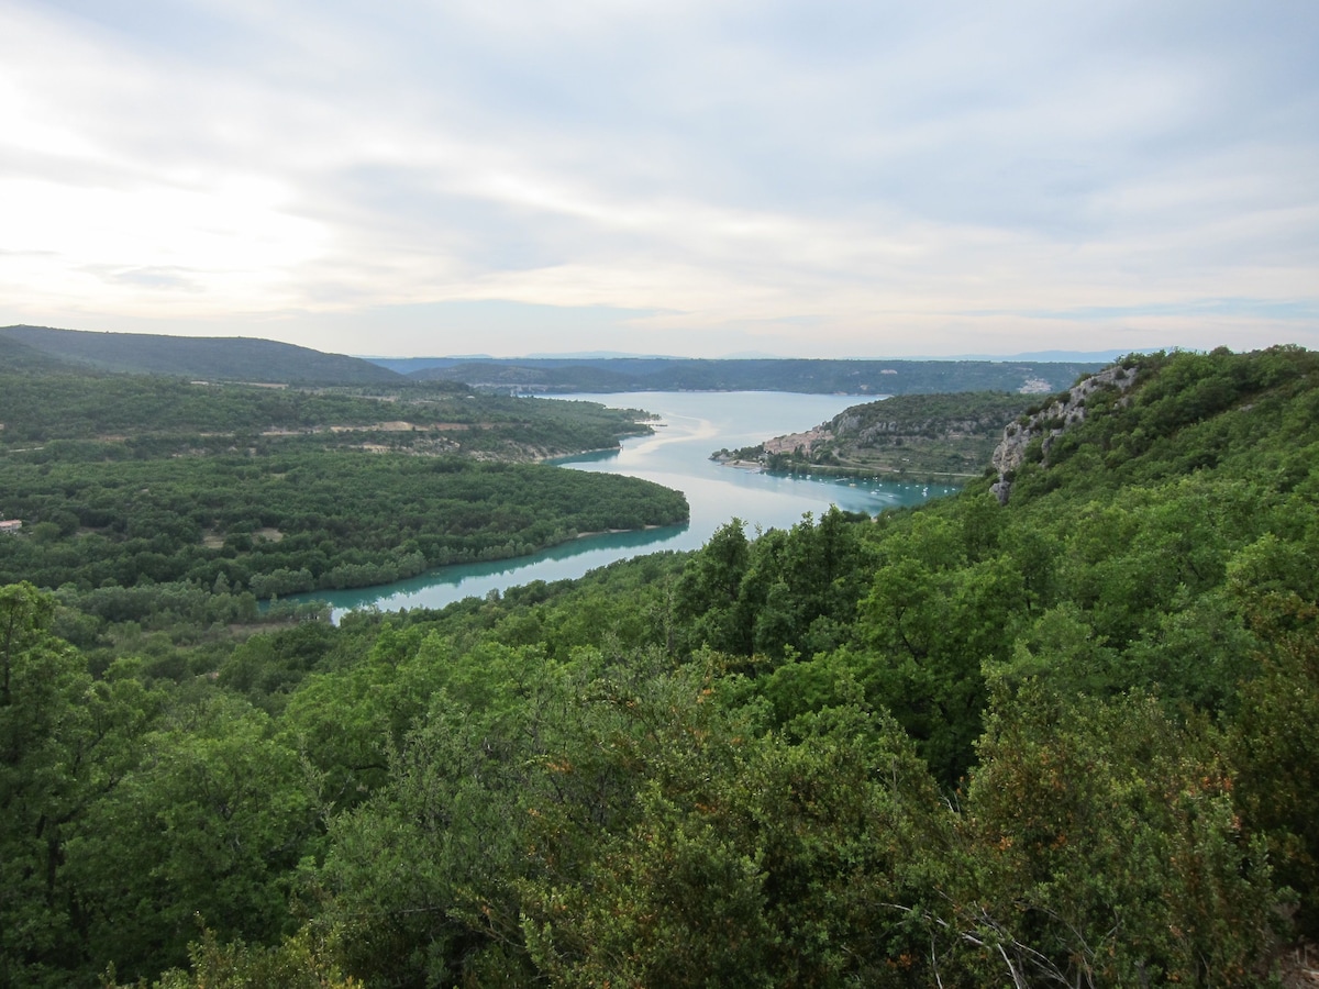
[[[442,608],[463,597],[481,597],[533,580],[578,578],[625,556],[658,550],[695,550],[737,517],[756,529],[786,529],[807,512],[816,517],[830,505],[877,514],[886,508],[917,505],[955,488],[828,477],[789,477],[724,467],[710,459],[720,448],[754,446],[785,433],[802,433],[852,405],[861,396],[791,394],[782,392],[632,392],[625,394],[557,396],[603,402],[619,409],[646,409],[661,417],[654,435],[623,442],[623,450],[566,458],[566,469],[607,471],[677,488],[687,496],[687,525],[644,533],[586,537],[533,556],[441,567],[410,580],[355,591],[318,591],[303,599],[327,600],[335,612],[377,607]],[[529,402],[555,398],[528,398]]]

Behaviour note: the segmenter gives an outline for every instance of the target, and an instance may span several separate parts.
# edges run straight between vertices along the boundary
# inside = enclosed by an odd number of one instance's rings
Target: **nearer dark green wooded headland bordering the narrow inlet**
[[[649,481],[541,464],[363,452],[0,462],[16,514],[75,514],[78,534],[0,543],[0,579],[46,587],[223,576],[261,599],[501,559],[579,533],[669,525],[686,498]],[[210,543],[210,545],[208,545]]]

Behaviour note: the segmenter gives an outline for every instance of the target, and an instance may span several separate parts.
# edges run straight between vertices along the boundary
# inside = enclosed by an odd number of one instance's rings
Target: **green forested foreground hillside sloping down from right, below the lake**
[[[1319,936],[1319,357],[1111,381],[1010,498],[443,611],[175,645],[4,587],[0,984],[1269,985]]]

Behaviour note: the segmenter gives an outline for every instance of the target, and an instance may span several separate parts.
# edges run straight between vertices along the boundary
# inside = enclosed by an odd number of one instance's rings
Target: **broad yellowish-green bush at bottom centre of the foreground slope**
[[[681,673],[625,703],[634,803],[575,868],[563,819],[537,828],[553,868],[524,882],[524,932],[555,982],[880,984],[921,951],[892,903],[919,899],[947,819],[901,729],[844,707],[764,732],[720,694]]]

